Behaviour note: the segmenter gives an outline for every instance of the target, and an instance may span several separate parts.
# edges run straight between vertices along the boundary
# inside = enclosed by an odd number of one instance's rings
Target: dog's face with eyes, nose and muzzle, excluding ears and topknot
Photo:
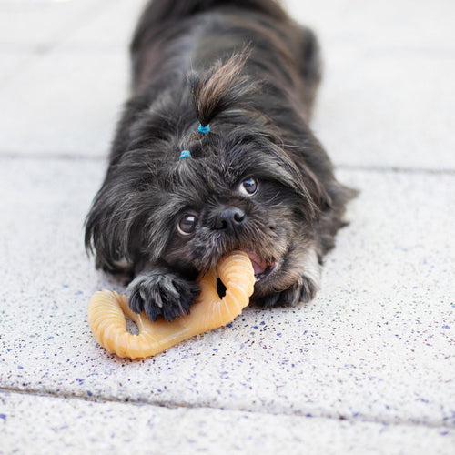
[[[192,157],[163,163],[145,190],[154,202],[140,222],[141,250],[194,278],[242,249],[260,298],[295,279],[288,265],[284,273],[283,261],[294,242],[304,241],[302,220],[309,223],[312,207],[298,169],[273,135],[230,127],[233,132],[224,125],[217,134],[215,124],[210,138],[186,145]]]

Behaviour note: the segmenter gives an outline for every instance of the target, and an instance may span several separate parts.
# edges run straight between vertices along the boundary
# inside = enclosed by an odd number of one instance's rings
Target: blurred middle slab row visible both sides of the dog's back
[[[0,151],[106,154],[127,96],[127,68],[119,50],[45,56],[0,90],[10,114]],[[314,129],[344,166],[455,168],[454,72],[455,59],[347,50],[326,71]]]

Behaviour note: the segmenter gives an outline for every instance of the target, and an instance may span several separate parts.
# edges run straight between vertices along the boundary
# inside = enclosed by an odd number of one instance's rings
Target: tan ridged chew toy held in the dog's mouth
[[[219,298],[217,276],[226,287]],[[125,295],[114,291],[96,292],[88,304],[88,323],[101,346],[119,357],[137,359],[163,352],[184,339],[217,329],[236,318],[247,307],[254,290],[254,270],[247,253],[234,251],[222,258],[217,270],[199,279],[201,293],[190,313],[172,322],[152,322],[145,313],[137,314],[128,306]],[[126,330],[125,315],[133,319],[138,335]]]

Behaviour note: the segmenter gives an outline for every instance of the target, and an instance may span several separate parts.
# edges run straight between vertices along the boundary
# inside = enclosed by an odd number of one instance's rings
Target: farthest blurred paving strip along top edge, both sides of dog
[[[72,35],[80,25],[86,30],[111,11],[126,12],[119,19],[129,21],[146,0],[0,0],[0,46],[43,47]],[[454,49],[451,18],[453,2],[439,0],[431,8],[424,1],[399,0],[369,4],[361,1],[284,0],[291,15],[318,28],[324,39],[346,40],[357,45],[391,45],[430,49]],[[98,38],[96,30],[94,37]],[[89,34],[91,35],[91,34]],[[101,38],[105,39],[105,38]],[[112,36],[111,39],[116,39]]]

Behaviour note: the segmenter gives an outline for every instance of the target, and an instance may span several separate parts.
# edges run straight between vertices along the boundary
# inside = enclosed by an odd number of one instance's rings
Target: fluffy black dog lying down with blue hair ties
[[[315,35],[272,0],[155,0],[131,48],[133,95],[86,218],[97,267],[134,278],[130,306],[154,320],[188,312],[197,275],[236,248],[253,301],[313,298],[353,195],[307,124]]]

